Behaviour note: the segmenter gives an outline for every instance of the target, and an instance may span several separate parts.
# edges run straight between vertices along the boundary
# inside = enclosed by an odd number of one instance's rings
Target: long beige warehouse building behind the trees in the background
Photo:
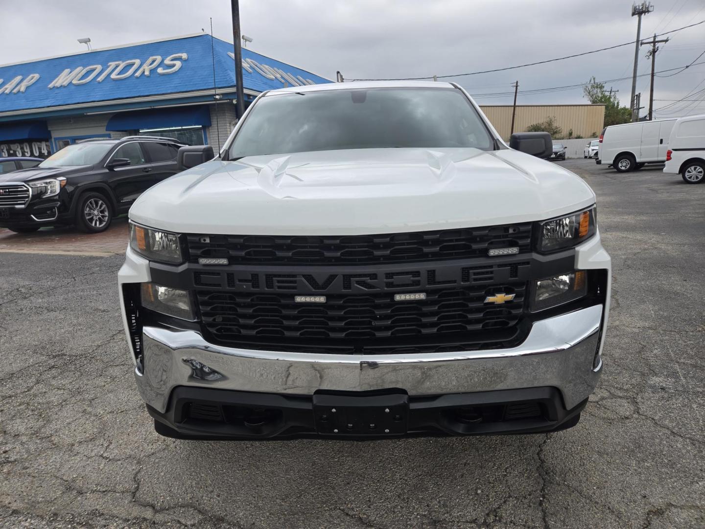
[[[480,108],[494,125],[497,132],[504,140],[509,140],[512,126],[512,105],[480,105]],[[605,119],[605,106],[603,104],[522,104],[517,105],[514,122],[514,132],[524,132],[534,123],[546,121],[553,116],[563,135],[559,140],[568,138],[572,129],[572,138],[596,138],[602,130]]]

